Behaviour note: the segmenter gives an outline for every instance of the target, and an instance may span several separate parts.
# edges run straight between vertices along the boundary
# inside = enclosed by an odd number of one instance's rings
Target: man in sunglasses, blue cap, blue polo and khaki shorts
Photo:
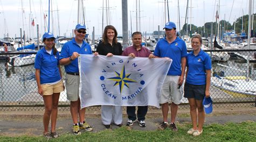
[[[79,99],[79,54],[92,54],[91,46],[84,41],[86,27],[78,24],[74,30],[75,38],[67,43],[60,52],[60,65],[65,65],[67,99],[70,100],[70,111],[73,119],[74,134],[81,134],[80,129],[92,131],[92,127],[85,122],[85,108],[80,108]],[[79,122],[78,122],[79,115]]]

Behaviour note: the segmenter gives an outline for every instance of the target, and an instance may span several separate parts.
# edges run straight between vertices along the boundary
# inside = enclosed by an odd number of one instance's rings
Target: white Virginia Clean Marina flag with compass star
[[[81,108],[95,105],[159,106],[171,59],[80,55]]]

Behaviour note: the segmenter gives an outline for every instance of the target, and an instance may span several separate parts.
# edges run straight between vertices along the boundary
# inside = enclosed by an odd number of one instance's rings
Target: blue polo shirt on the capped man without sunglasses
[[[186,57],[186,43],[178,37],[169,43],[166,38],[161,39],[156,44],[154,55],[158,57],[169,57],[172,59],[169,76],[181,76],[181,58]]]

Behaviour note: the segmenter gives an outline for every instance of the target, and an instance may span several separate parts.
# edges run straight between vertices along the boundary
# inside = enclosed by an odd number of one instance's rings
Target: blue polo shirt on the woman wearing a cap
[[[47,53],[45,48],[37,52],[34,60],[34,68],[40,70],[40,84],[54,83],[60,80],[59,73],[59,52],[56,55]]]

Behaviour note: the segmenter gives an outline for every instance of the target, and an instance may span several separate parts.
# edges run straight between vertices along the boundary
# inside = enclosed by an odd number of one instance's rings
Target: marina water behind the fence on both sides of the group
[[[229,60],[225,63],[220,63],[230,66],[234,69],[226,68],[217,65],[217,62],[212,63],[212,71],[224,71],[225,76],[246,76],[246,63],[237,63],[236,60]],[[249,77],[256,80],[256,63],[250,63]],[[35,79],[34,65],[15,66],[6,68],[4,63],[0,63],[0,101],[13,102],[17,101],[22,96],[37,89]]]

